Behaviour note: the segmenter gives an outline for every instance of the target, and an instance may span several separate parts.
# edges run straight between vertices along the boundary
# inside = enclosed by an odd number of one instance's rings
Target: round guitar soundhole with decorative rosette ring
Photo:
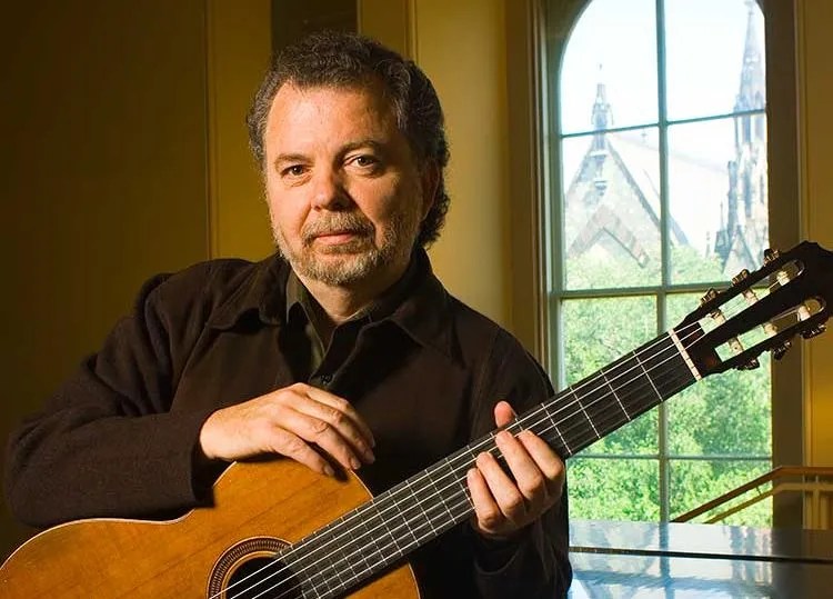
[[[301,599],[300,586],[274,553],[288,543],[254,537],[223,552],[211,571],[209,599]]]

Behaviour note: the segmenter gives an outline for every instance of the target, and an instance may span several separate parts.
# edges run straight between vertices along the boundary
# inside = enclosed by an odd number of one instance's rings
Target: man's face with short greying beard
[[[381,93],[287,83],[263,142],[272,232],[298,276],[338,287],[394,282],[435,183]]]

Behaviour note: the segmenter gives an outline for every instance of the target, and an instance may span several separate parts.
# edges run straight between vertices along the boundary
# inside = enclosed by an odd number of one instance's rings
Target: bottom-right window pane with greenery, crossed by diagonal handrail
[[[772,468],[769,461],[752,460],[670,460],[669,463],[671,471],[671,488],[669,493],[671,497],[672,518],[693,510],[732,489],[736,489],[741,485],[769,472]],[[572,488],[570,492],[572,493]],[[717,511],[724,511],[729,507],[737,506],[755,495],[752,493],[733,499],[713,512],[697,517],[695,521],[703,522],[707,518],[716,516]],[[729,516],[726,519],[721,520],[721,522],[744,526],[772,526],[772,501],[764,499],[745,508],[741,512]]]

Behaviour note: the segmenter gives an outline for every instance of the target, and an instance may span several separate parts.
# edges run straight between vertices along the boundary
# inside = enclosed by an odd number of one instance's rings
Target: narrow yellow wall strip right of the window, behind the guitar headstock
[[[833,3],[797,2],[800,162],[804,237],[833,251]],[[833,272],[827,273],[833,278]],[[833,328],[833,322],[829,323]],[[805,345],[805,451],[833,465],[833,331]]]

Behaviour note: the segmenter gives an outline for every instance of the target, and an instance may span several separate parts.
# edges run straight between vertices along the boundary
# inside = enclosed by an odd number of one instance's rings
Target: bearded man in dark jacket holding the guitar
[[[277,57],[249,117],[279,254],[145,283],[136,311],[13,436],[7,496],[49,526],[165,518],[232,461],[358,470],[380,492],[548,399],[516,340],[448,294],[423,247],[449,152],[412,62],[352,34]],[[564,468],[529,431],[471,465],[473,513],[412,556],[425,598],[558,597]]]

